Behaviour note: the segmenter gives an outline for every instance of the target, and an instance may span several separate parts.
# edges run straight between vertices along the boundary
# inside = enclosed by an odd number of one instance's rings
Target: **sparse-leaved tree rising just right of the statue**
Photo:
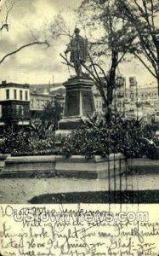
[[[93,76],[108,112],[111,112],[117,67],[135,38],[134,29],[127,20],[122,22],[117,12],[115,0],[83,0],[78,9],[80,24],[90,42],[90,66],[84,67]]]

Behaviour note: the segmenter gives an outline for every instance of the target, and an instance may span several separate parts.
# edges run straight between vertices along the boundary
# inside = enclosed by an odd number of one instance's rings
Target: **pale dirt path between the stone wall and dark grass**
[[[125,189],[125,177],[122,177],[122,190]],[[114,181],[111,180],[113,190]],[[119,189],[119,177],[116,178],[116,189]],[[134,175],[128,177],[128,189],[159,189],[159,175]],[[64,192],[105,191],[108,180],[77,178],[2,178],[0,179],[0,203],[24,204],[34,196]]]

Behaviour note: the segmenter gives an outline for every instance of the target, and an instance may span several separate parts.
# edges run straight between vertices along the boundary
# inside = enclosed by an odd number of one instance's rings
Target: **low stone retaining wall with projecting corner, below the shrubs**
[[[126,160],[122,154],[110,154],[103,158],[94,155],[87,160],[84,155],[30,155],[8,156],[4,161],[0,178],[14,177],[82,177],[105,178],[121,175],[126,171]],[[110,173],[110,174],[109,174]]]

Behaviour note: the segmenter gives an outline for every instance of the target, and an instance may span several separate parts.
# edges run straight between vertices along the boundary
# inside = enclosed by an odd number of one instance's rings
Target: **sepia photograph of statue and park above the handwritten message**
[[[159,201],[158,9],[1,1],[1,203]]]

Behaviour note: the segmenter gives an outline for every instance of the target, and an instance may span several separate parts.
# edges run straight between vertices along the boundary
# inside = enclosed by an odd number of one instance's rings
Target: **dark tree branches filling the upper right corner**
[[[118,17],[129,23],[136,36],[130,53],[147,68],[159,86],[158,0],[116,0]]]

